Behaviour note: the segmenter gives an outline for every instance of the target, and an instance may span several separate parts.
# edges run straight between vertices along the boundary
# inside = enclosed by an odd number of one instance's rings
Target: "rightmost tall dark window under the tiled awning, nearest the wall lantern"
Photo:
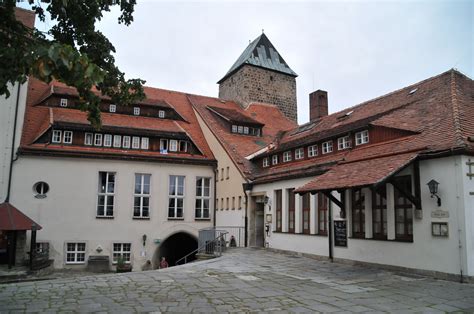
[[[412,193],[410,176],[396,177],[395,180],[406,193]],[[395,238],[413,240],[413,206],[398,189],[395,189]]]

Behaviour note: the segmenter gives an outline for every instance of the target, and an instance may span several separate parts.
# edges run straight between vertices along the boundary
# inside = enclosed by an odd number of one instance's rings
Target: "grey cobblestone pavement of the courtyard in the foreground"
[[[0,285],[0,312],[474,312],[474,285],[257,249],[165,270]]]

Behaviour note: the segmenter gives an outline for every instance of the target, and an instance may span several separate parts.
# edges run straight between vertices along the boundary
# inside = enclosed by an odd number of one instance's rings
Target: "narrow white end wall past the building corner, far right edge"
[[[462,156],[460,163],[460,177],[463,183],[464,192],[462,199],[464,201],[465,215],[464,230],[466,230],[466,273],[469,276],[474,276],[474,177],[469,178],[467,176],[468,173],[474,173],[474,165],[471,166],[471,172],[469,172],[469,166],[467,165],[468,161],[474,162],[474,157]]]

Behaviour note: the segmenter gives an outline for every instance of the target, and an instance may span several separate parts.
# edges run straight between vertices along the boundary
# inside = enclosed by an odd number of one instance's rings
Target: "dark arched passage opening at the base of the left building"
[[[161,243],[155,255],[155,265],[158,266],[161,258],[165,257],[169,266],[175,266],[177,260],[196,250],[197,247],[198,241],[194,236],[186,232],[175,233]],[[187,261],[195,259],[196,256],[193,254],[187,258]]]

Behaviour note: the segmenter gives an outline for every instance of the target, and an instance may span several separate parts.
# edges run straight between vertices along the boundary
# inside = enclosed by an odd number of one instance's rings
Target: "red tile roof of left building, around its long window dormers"
[[[53,82],[51,84],[45,84],[35,78],[30,78],[28,85],[28,96],[27,96],[27,107],[25,111],[25,120],[23,125],[23,133],[21,140],[21,151],[30,151],[30,152],[39,152],[43,150],[48,150],[50,153],[58,152],[63,150],[63,152],[73,153],[76,150],[77,153],[88,151],[90,153],[104,153],[110,155],[113,154],[122,154],[122,155],[142,155],[144,158],[149,158],[150,152],[146,151],[133,151],[133,152],[124,152],[121,150],[113,149],[103,149],[98,147],[87,148],[86,150],[72,146],[66,148],[64,147],[54,147],[54,145],[36,145],[34,141],[44,133],[53,123],[63,123],[63,124],[79,124],[90,126],[90,123],[87,121],[87,114],[81,112],[80,110],[71,109],[71,108],[50,108],[46,106],[37,106],[39,101],[43,100],[45,95],[49,95],[51,91],[57,90],[57,87],[61,89],[62,92],[70,93],[71,95],[76,95],[77,92],[74,88],[65,86],[59,82]],[[195,116],[194,110],[191,103],[189,102],[187,95],[180,92],[168,91],[163,89],[145,87],[145,94],[147,96],[146,101],[152,100],[157,106],[163,106],[166,104],[183,117],[185,121],[181,120],[168,120],[168,119],[159,119],[159,118],[149,118],[143,116],[128,116],[121,114],[113,113],[102,113],[102,122],[104,128],[106,127],[116,127],[124,129],[135,129],[141,130],[142,132],[167,132],[167,133],[186,133],[191,141],[196,145],[196,147],[202,152],[202,156],[198,155],[186,155],[184,159],[198,159],[200,161],[208,160],[209,162],[215,162],[214,155],[207,144],[202,130],[199,126],[197,118]],[[159,154],[160,160],[164,158],[173,159],[172,154],[162,155]],[[181,154],[180,156],[183,156]]]

